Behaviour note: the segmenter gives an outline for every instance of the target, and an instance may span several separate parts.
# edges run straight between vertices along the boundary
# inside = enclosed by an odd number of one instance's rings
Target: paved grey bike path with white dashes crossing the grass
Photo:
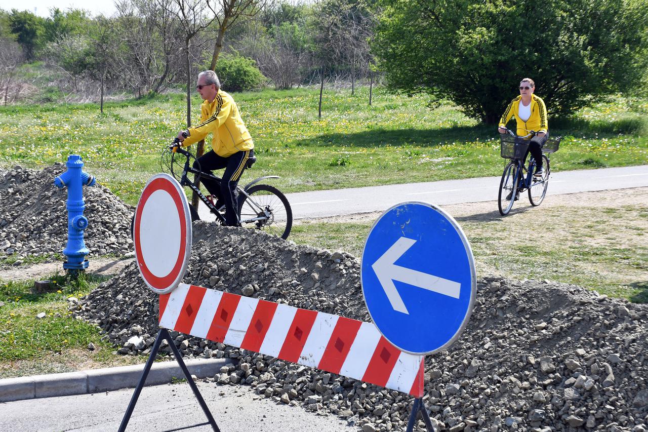
[[[272,184],[272,180],[270,183]],[[500,176],[496,176],[297,192],[289,193],[286,197],[292,206],[295,219],[310,219],[382,211],[404,201],[425,201],[444,205],[496,200],[499,186]],[[648,165],[553,171],[547,194],[642,186],[648,186]],[[214,219],[203,204],[200,204],[198,212],[201,219]]]

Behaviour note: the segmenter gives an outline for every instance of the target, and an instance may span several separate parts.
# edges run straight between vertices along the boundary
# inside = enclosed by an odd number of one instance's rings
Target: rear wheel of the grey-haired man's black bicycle
[[[292,228],[292,209],[286,196],[276,187],[257,184],[240,195],[238,217],[241,225],[287,239]]]

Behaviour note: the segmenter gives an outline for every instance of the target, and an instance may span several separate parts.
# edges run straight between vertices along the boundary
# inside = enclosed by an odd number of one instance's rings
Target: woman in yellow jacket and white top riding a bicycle
[[[533,94],[535,91],[535,82],[531,78],[524,78],[520,82],[520,95],[513,101],[502,114],[498,131],[500,134],[506,133],[506,123],[515,115],[517,122],[518,136],[527,135],[527,131],[534,130],[538,132],[529,143],[529,150],[536,162],[536,176],[542,176],[544,169],[542,167],[542,145],[549,137],[549,125],[547,121],[547,108],[540,97]],[[524,156],[526,160],[526,156]],[[524,162],[524,161],[523,161]]]

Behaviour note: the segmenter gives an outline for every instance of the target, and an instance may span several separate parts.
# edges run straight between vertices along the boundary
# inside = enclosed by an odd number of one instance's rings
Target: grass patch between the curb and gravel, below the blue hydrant
[[[67,298],[80,298],[103,278],[73,282],[54,275],[50,280],[45,293],[35,293],[33,282],[0,282],[0,378],[142,361],[116,355],[97,327],[67,311]],[[43,312],[44,318],[36,318]],[[95,350],[87,349],[89,343]]]

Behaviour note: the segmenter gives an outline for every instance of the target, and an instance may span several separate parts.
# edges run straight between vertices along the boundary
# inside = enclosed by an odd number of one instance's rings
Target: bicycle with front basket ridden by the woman
[[[502,180],[500,180],[500,191],[498,193],[498,208],[500,214],[505,216],[509,214],[513,203],[519,199],[520,193],[525,190],[529,193],[529,202],[531,206],[539,206],[544,200],[549,186],[549,178],[551,174],[551,167],[549,164],[549,154],[558,151],[562,137],[548,138],[542,146],[542,165],[544,166],[544,174],[542,176],[535,176],[536,162],[533,156],[529,156],[528,167],[524,166],[524,158],[529,149],[529,141],[527,139],[536,136],[538,132],[528,130],[527,136],[516,136],[516,134],[509,129],[507,133],[500,134],[502,147],[500,156],[505,159],[510,159],[504,172],[502,173]]]

